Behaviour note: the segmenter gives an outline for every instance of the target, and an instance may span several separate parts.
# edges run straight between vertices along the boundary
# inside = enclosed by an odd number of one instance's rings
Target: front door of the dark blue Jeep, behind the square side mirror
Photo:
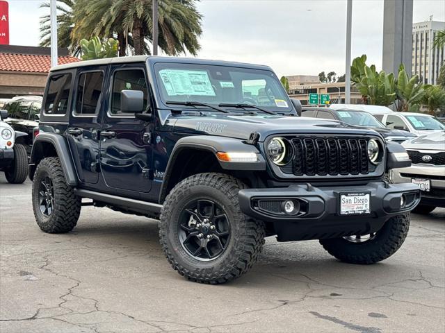
[[[152,188],[152,123],[120,111],[122,90],[140,90],[149,105],[145,63],[111,67],[108,111],[100,133],[100,166],[107,187],[147,193]]]

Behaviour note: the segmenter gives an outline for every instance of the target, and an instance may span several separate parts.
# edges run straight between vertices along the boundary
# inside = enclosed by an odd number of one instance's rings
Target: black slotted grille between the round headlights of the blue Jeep
[[[295,176],[347,176],[369,173],[368,140],[358,137],[289,138],[293,159],[282,167]]]

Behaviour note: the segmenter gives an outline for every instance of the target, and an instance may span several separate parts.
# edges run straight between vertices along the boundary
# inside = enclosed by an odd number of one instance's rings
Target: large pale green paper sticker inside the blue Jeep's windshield
[[[168,96],[216,96],[207,71],[161,69],[159,75]]]

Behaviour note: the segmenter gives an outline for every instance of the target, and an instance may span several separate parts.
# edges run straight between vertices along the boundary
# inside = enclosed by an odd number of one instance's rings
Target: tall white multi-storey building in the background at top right
[[[412,25],[412,75],[417,74],[423,83],[435,85],[444,61],[445,46],[433,47],[437,31],[445,30],[445,22],[429,21]]]

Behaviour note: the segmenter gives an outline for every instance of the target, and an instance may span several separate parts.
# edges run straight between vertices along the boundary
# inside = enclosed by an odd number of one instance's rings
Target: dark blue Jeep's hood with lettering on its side
[[[202,117],[179,115],[172,116],[173,119],[173,130],[177,133],[218,135],[237,139],[249,139],[250,133],[259,133],[259,141],[264,141],[268,135],[289,133],[377,135],[373,130],[350,126],[341,121],[305,117],[211,114]]]

